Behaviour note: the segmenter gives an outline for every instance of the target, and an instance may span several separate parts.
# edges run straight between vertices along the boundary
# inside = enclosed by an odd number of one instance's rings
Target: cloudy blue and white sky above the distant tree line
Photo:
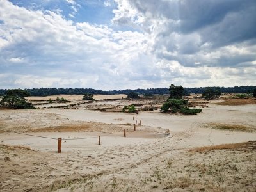
[[[0,88],[256,85],[255,0],[0,0]]]

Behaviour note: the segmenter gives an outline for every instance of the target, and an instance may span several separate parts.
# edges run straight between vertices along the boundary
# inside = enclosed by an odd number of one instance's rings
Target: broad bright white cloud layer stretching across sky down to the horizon
[[[178,17],[180,1],[115,2],[113,24],[134,31],[72,22],[60,10],[26,10],[0,1],[0,88],[113,90],[167,87],[170,83],[193,87],[256,83],[255,43],[214,47],[216,42],[207,40],[209,28],[221,26],[220,22],[183,29],[186,19]],[[67,3],[78,6],[76,1]]]

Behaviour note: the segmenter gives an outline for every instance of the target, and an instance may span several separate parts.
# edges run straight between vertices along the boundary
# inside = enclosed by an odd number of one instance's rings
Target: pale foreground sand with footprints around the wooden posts
[[[255,191],[255,148],[191,149],[256,140],[255,131],[205,126],[255,130],[256,105],[208,106],[195,116],[142,111],[134,120],[87,109],[0,110],[0,190]],[[142,126],[133,131],[135,120]],[[4,131],[61,137],[62,152],[55,139]]]

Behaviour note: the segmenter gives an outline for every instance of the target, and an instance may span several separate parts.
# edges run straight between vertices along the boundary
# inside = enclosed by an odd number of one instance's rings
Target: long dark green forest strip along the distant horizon
[[[222,93],[251,93],[256,86],[234,86],[234,87],[198,87],[198,88],[184,88],[184,95],[190,93],[202,94],[207,88],[218,88]],[[95,90],[92,88],[33,88],[27,90],[31,96],[49,96],[49,95],[83,95],[84,93],[101,94],[101,95],[116,95],[136,92],[141,95],[164,95],[168,94],[168,88],[148,88],[148,89],[125,89],[125,90]],[[0,89],[0,96],[6,93],[7,89]]]

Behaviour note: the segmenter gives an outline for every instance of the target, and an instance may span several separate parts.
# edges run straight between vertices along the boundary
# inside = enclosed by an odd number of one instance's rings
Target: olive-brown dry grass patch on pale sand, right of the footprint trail
[[[230,125],[230,124],[207,124],[206,127],[211,127],[212,129],[220,129],[227,131],[241,131],[241,132],[253,132],[255,128],[248,127],[244,125]]]

